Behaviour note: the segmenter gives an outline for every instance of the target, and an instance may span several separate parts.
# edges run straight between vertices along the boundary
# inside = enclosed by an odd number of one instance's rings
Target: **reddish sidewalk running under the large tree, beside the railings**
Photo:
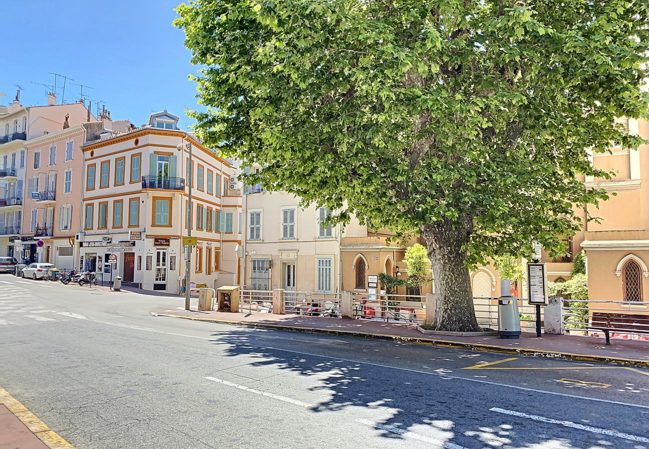
[[[520,339],[515,340],[500,339],[497,336],[447,337],[446,335],[424,335],[411,324],[271,313],[166,310],[152,315],[314,334],[387,339],[519,356],[649,367],[649,343],[646,341],[611,339],[611,345],[605,346],[603,337],[543,334],[541,338],[537,338],[536,334],[529,332],[523,332]]]

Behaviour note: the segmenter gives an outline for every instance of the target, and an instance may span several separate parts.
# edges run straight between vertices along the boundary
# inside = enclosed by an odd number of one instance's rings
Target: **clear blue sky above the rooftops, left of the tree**
[[[197,108],[196,88],[184,33],[171,25],[173,8],[182,0],[22,0],[3,1],[3,68],[0,104],[13,101],[24,88],[21,103],[45,104],[53,84],[48,72],[84,84],[95,102],[103,101],[113,119],[148,123],[152,111],[169,110],[181,117],[180,127],[193,123],[186,107]],[[57,80],[57,88],[63,82]],[[66,103],[79,98],[78,86],[66,85]],[[62,91],[57,92],[57,103]]]

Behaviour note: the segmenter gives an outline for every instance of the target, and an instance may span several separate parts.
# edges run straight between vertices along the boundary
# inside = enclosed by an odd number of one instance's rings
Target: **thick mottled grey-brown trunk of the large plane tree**
[[[478,332],[473,306],[471,278],[464,261],[467,252],[462,248],[468,240],[467,230],[451,226],[425,226],[421,237],[428,250],[435,283],[436,330],[452,332]]]

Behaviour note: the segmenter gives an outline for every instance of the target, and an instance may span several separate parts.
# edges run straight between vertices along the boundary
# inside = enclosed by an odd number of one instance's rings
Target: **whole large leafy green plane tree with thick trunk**
[[[556,252],[605,199],[590,152],[635,149],[649,2],[196,0],[178,6],[197,131],[269,189],[419,234],[440,330],[473,331],[469,268]]]

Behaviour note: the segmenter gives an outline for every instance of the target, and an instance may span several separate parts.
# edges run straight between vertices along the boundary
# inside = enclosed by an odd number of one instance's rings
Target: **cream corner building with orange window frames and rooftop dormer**
[[[106,247],[121,243],[127,247],[117,253],[114,275],[143,289],[178,293],[185,275],[182,236],[190,225],[191,172],[191,234],[198,239],[190,254],[191,282],[212,287],[238,281],[241,196],[230,191],[233,167],[178,129],[178,119],[164,110],[151,115],[148,125],[83,145],[75,241],[80,269],[110,273]]]

